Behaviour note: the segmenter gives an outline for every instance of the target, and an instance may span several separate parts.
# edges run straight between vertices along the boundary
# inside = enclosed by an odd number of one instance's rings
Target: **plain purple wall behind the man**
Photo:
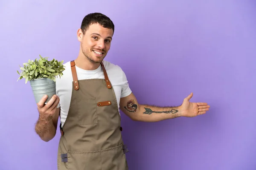
[[[207,102],[207,114],[155,123],[123,113],[130,170],[256,169],[256,1],[0,1],[0,170],[56,170],[59,131],[43,142],[37,107],[16,70],[28,59],[67,62],[83,17],[102,12],[116,30],[106,60],[141,104]],[[58,122],[59,123],[59,122]]]

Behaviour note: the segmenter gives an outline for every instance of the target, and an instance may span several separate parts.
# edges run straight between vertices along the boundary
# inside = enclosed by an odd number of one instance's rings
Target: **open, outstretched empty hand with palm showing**
[[[192,98],[193,93],[189,94],[184,100],[182,105],[180,106],[181,112],[183,113],[182,116],[185,117],[195,117],[201,114],[206,113],[209,111],[210,106],[207,103],[197,102],[192,103],[189,100]]]

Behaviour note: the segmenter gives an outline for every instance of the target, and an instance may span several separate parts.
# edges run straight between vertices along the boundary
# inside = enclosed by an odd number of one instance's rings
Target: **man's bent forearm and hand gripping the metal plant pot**
[[[57,108],[59,102],[58,96],[53,96],[52,99],[44,105],[46,99],[47,98],[42,98],[41,101],[38,102],[39,118],[35,125],[35,131],[43,141],[48,142],[56,134],[60,108]]]

